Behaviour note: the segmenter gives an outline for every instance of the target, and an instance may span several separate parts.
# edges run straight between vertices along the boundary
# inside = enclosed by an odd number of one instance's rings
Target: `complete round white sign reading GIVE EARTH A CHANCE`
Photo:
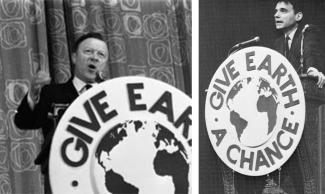
[[[274,50],[242,49],[215,72],[205,121],[210,142],[228,167],[249,176],[268,174],[289,159],[303,132],[299,76]]]

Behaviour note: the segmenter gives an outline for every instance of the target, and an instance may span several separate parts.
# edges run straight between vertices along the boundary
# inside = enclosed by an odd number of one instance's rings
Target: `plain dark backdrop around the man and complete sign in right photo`
[[[325,40],[325,0],[305,0],[304,23],[318,25]],[[235,44],[259,36],[269,47],[277,32],[273,0],[201,0],[199,7],[199,190],[224,193],[222,161],[214,152],[205,125],[205,89]]]

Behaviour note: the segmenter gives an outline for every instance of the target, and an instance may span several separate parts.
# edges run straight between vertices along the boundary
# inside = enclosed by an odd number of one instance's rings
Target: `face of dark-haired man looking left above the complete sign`
[[[275,27],[284,32],[290,31],[302,19],[302,13],[295,13],[291,3],[279,2],[275,7]]]

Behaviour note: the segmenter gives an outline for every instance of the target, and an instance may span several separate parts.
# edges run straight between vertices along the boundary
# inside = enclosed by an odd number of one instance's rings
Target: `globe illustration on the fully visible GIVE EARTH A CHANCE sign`
[[[278,94],[262,77],[247,77],[238,81],[226,100],[230,123],[240,143],[258,147],[270,138],[275,128]]]

